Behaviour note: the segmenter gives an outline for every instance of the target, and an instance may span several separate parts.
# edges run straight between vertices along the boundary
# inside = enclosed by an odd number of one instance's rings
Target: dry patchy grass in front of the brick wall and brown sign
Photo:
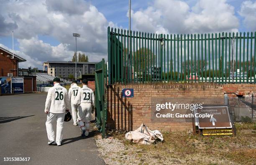
[[[145,159],[163,162],[170,158],[197,161],[202,164],[254,164],[256,162],[256,123],[236,123],[237,136],[197,136],[187,132],[162,132],[164,142],[154,145],[137,145],[124,139],[124,133],[113,133],[129,153]],[[132,152],[131,152],[132,151]],[[128,153],[125,152],[124,155]],[[218,161],[222,161],[219,162]],[[143,164],[148,162],[144,160]],[[177,162],[179,163],[179,162]],[[190,162],[192,163],[192,162]],[[190,164],[189,162],[187,164]],[[192,163],[193,164],[193,163]]]

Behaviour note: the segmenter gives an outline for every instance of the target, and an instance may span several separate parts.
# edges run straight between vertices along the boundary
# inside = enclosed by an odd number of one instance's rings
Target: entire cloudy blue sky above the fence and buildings
[[[132,30],[153,33],[256,31],[256,0],[131,0]],[[107,58],[107,28],[128,28],[128,0],[0,0],[0,47],[42,69],[70,61],[72,33],[90,61]]]

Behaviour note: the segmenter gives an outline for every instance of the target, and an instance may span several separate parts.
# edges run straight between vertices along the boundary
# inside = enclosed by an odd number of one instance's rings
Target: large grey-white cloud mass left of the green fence
[[[107,57],[108,25],[105,16],[84,0],[9,0],[0,5],[0,36],[14,30],[20,51],[31,57],[26,63],[70,60],[75,48],[72,33],[81,34],[77,51],[100,61],[102,54]],[[38,36],[51,36],[60,44],[51,46]]]

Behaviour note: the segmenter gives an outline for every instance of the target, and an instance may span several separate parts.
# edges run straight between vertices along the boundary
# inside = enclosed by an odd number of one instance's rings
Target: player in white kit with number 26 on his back
[[[62,87],[59,78],[54,78],[54,86],[48,91],[45,110],[47,114],[46,119],[46,131],[48,135],[49,145],[54,143],[54,128],[53,123],[57,122],[56,127],[56,144],[61,145],[63,122],[65,117],[65,112],[69,111],[69,95],[67,89]]]

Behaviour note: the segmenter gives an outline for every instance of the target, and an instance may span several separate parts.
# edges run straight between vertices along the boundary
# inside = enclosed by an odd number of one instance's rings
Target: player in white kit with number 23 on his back
[[[82,80],[83,87],[80,92],[80,106],[78,111],[78,124],[82,130],[82,136],[88,136],[90,132],[90,121],[92,114],[92,105],[94,106],[94,93],[88,85],[86,79]],[[84,125],[85,124],[85,125]]]

